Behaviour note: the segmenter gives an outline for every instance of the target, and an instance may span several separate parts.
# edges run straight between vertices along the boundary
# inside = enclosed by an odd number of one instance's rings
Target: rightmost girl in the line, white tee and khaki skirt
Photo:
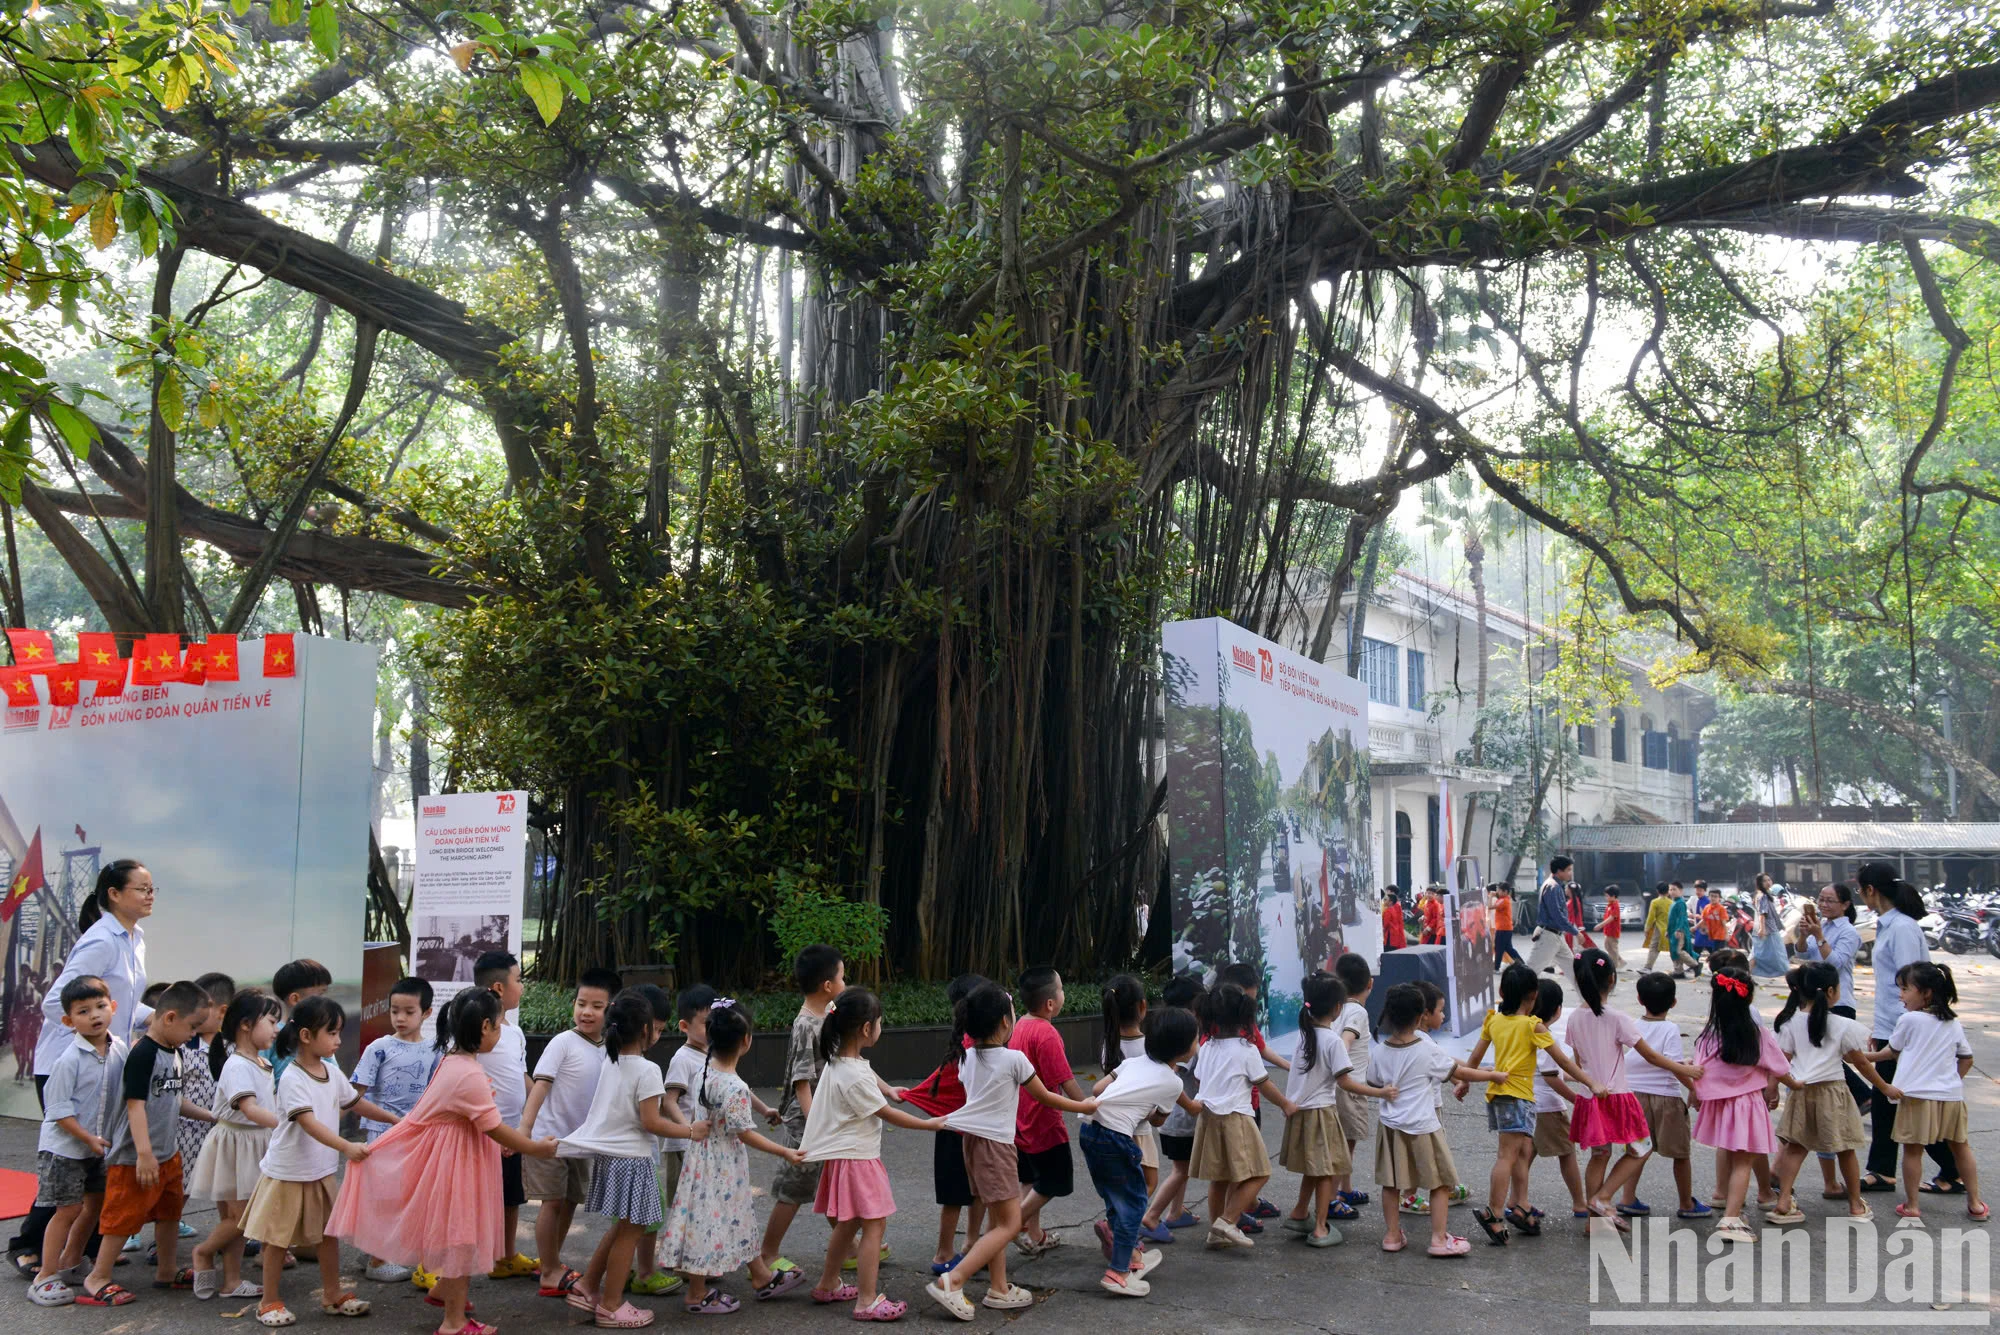
[[[1922,1219],[1916,1203],[1924,1179],[1924,1145],[1944,1141],[1958,1163],[1958,1181],[1966,1185],[1966,1213],[1986,1223],[1992,1211],[1980,1197],[1980,1171],[1966,1143],[1966,1071],[1972,1069],[1972,1045],[1958,1023],[1952,1003],[1958,983],[1942,963],[1906,963],[1896,969],[1896,995],[1902,997],[1902,1019],[1888,1043],[1874,1051],[1876,1061],[1896,1059],[1896,1085],[1888,1097],[1896,1101],[1896,1143],[1902,1145],[1902,1181],[1906,1201],[1896,1207],[1898,1219]]]

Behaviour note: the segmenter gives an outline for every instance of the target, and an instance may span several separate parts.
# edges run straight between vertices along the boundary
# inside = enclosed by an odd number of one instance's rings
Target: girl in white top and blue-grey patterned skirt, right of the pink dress
[[[652,1001],[638,989],[618,993],[604,1011],[608,1067],[582,1125],[562,1137],[562,1153],[590,1155],[590,1197],[584,1209],[612,1221],[582,1279],[570,1289],[568,1303],[606,1329],[638,1329],[654,1319],[654,1313],[624,1297],[632,1253],[646,1229],[664,1217],[656,1163],[660,1145],[654,1137],[696,1141],[708,1133],[708,1127],[682,1121],[678,1105],[666,1101],[666,1079],[646,1057],[656,1037]],[[798,1281],[796,1271],[774,1275],[760,1285],[758,1297],[774,1297]]]

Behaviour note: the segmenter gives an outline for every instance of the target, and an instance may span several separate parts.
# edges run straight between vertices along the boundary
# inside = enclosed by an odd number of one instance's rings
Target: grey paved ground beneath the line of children
[[[1996,1135],[2000,1131],[2000,1089],[1984,1073],[2000,1071],[2000,961],[1986,959],[1978,963],[1972,957],[1964,957],[1952,963],[1958,965],[1966,991],[1962,1015],[1978,1061],[1978,1069],[1968,1079],[1972,1143],[1988,1175],[2000,1177],[2000,1153],[1996,1153],[2000,1151],[2000,1135]],[[1866,971],[1860,973],[1860,987],[1872,995],[1872,977]],[[1620,987],[1618,1001],[1624,1005],[1632,1003],[1630,981]],[[1774,1013],[1776,1005],[1776,999],[1760,995],[1760,1009],[1766,1015]],[[1704,1013],[1706,985],[1684,985],[1678,1017],[1690,1037],[1698,1031]],[[1478,1107],[1470,1101],[1466,1105],[1452,1103],[1446,1109],[1446,1129],[1466,1181],[1476,1191],[1484,1191],[1486,1171],[1492,1165],[1492,1137],[1484,1129]],[[1276,1155],[1276,1123],[1266,1125],[1266,1139]],[[906,1325],[934,1331],[952,1329],[956,1323],[924,1299],[922,1293],[924,1279],[928,1279],[924,1263],[930,1259],[936,1231],[936,1213],[930,1203],[928,1137],[890,1129],[884,1135],[884,1147],[896,1195],[902,1201],[902,1211],[890,1221],[888,1235],[896,1255],[884,1267],[886,1291],[910,1301],[912,1309],[910,1317],[904,1319]],[[20,1121],[0,1123],[0,1165],[32,1169],[32,1125]],[[756,1161],[758,1179],[768,1181],[770,1161],[760,1155],[752,1155],[752,1159]],[[1362,1145],[1360,1161],[1372,1165],[1374,1159],[1368,1145]],[[1708,1153],[1696,1147],[1698,1191],[1704,1191],[1704,1183],[1710,1179],[1712,1163]],[[1818,1305],[1824,1301],[1824,1217],[1828,1205],[1818,1199],[1812,1163],[1806,1165],[1802,1185],[1806,1185],[1802,1203],[1810,1215],[1804,1231],[1812,1239],[1812,1297],[1814,1305]],[[1592,1309],[1592,1265],[1586,1231],[1580,1223],[1572,1223],[1566,1217],[1552,1221],[1540,1239],[1516,1239],[1514,1245],[1504,1249],[1476,1245],[1466,1259],[1432,1261],[1420,1251],[1406,1251],[1402,1255],[1380,1253],[1376,1245],[1382,1235],[1382,1219],[1376,1207],[1370,1207],[1362,1223],[1348,1227],[1348,1245],[1330,1251],[1310,1251],[1298,1243],[1284,1241],[1274,1229],[1266,1233],[1256,1251],[1210,1253],[1202,1251],[1198,1239],[1182,1233],[1182,1241],[1166,1249],[1166,1263],[1154,1275],[1150,1299],[1112,1299],[1094,1287],[1102,1263],[1088,1225],[1102,1211],[1098,1199],[1088,1189],[1088,1177],[1080,1165],[1078,1187],[1078,1195],[1058,1203],[1050,1211],[1052,1221],[1070,1235],[1070,1245],[1040,1261],[1010,1261],[1010,1275],[1036,1291],[1038,1305],[1030,1311],[1006,1315],[982,1309],[976,1329],[998,1331],[1010,1325],[1044,1325],[1060,1331],[1092,1329],[1102,1335],[1196,1331],[1204,1335],[1248,1331],[1258,1331],[1258,1335],[1304,1331],[1442,1335],[1500,1323],[1520,1329],[1572,1331],[1592,1325],[1592,1315],[1598,1317],[1598,1323],[1604,1323],[1608,1317],[1622,1317],[1622,1323],[1632,1323],[1634,1315],[1640,1315],[1646,1325],[1688,1323],[1686,1317],[1694,1315],[1668,1313],[1662,1317],[1660,1313],[1642,1315],[1630,1309],[1614,1311],[1608,1299]],[[1294,1191],[1296,1179],[1280,1169],[1268,1195],[1280,1205],[1290,1205]],[[1562,1185],[1552,1165],[1546,1161],[1540,1163],[1536,1169],[1536,1197],[1546,1203],[1552,1215],[1566,1215],[1562,1195]],[[1642,1195],[1656,1205],[1672,1199],[1664,1163],[1648,1169]],[[1892,1197],[1874,1195],[1868,1199],[1882,1215],[1878,1227],[1886,1237],[1890,1233]],[[526,1213],[532,1219],[532,1207]],[[1476,1237],[1478,1229],[1468,1209],[1452,1211],[1452,1219],[1456,1231]],[[1932,1219],[1934,1227],[1962,1223],[1956,1211],[1946,1209],[1934,1211]],[[212,1221],[212,1213],[204,1211],[194,1215],[192,1221],[196,1227],[206,1227]],[[1412,1223],[1418,1221],[1412,1219]],[[1696,1225],[1696,1237],[1706,1231],[1706,1225]],[[532,1237],[528,1221],[524,1221],[524,1235]],[[594,1237],[596,1223],[580,1223],[570,1241],[568,1255],[580,1261],[588,1255]],[[802,1217],[794,1225],[788,1255],[808,1267],[816,1267],[824,1237],[826,1231],[818,1219]],[[1768,1241],[1756,1251],[1764,1255],[1774,1253]],[[1990,1265],[1980,1257],[1976,1261],[1980,1261],[1974,1267],[1976,1275],[1984,1275]],[[1712,1271],[1716,1263],[1708,1261],[1706,1253],[1702,1253],[1702,1265],[1708,1265]],[[312,1289],[310,1273],[292,1271],[292,1275],[298,1279],[298,1297],[306,1297]],[[144,1283],[150,1275],[134,1267],[124,1267],[120,1277],[130,1285],[132,1277]],[[1706,1283],[1714,1285],[1720,1279],[1710,1275]],[[1982,1283],[1978,1277],[1972,1281],[1972,1285]],[[248,1317],[254,1315],[254,1311],[240,1311],[242,1305],[238,1303],[196,1303],[186,1295],[164,1295],[140,1285],[134,1287],[142,1293],[140,1301],[118,1311],[84,1307],[42,1311],[26,1301],[24,1287],[0,1279],[0,1329],[76,1331],[78,1335],[182,1335],[212,1331],[218,1323],[224,1323],[224,1329],[244,1331],[250,1327]],[[372,1327],[434,1329],[436,1309],[424,1307],[420,1295],[408,1285],[382,1287],[362,1283],[360,1287],[374,1301]],[[746,1285],[736,1283],[734,1289],[742,1295]],[[1932,1307],[1934,1293],[1918,1289],[1910,1299],[1888,1303],[1878,1293],[1874,1303],[1860,1303],[1840,1313],[1840,1321],[1850,1327],[1880,1329],[1890,1321],[1950,1321],[1964,1325],[1968,1321],[1984,1323],[1988,1317],[1984,1301],[1976,1301],[1972,1307],[1958,1305],[1938,1311]],[[536,1299],[532,1285],[524,1281],[474,1281],[474,1301],[482,1319],[502,1327],[510,1335],[530,1329],[560,1331],[566,1327],[568,1313],[556,1303]],[[652,1305],[660,1307],[660,1325],[682,1325],[688,1321],[672,1299],[654,1299]],[[314,1307],[296,1301],[294,1309],[314,1311]],[[1678,1321],[1676,1315],[1680,1317]],[[1756,1309],[1718,1311],[1710,1305],[1710,1313],[1704,1315],[1704,1323],[1760,1323]],[[1794,1311],[1786,1315],[1796,1321],[1802,1313]],[[770,1305],[750,1307],[746,1303],[746,1311],[732,1319],[734,1325],[760,1331],[824,1331],[836,1321],[844,1321],[844,1313],[836,1315],[816,1309],[800,1291]],[[1838,1325],[1840,1321],[1814,1323]],[[332,1317],[318,1315],[302,1315],[300,1319],[302,1327],[330,1327],[336,1323]]]

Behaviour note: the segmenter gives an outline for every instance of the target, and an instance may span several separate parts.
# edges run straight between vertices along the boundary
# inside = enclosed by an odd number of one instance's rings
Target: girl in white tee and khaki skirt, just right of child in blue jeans
[[[1264,1069],[1264,1055],[1250,1041],[1256,1029],[1256,1001],[1236,983],[1222,983],[1208,997],[1202,1017],[1216,1035],[1202,1045],[1194,1075],[1202,1085],[1202,1115],[1194,1121],[1194,1157],[1188,1177],[1208,1179],[1208,1245],[1252,1247],[1236,1219],[1256,1205],[1256,1193],[1270,1181],[1270,1155],[1250,1113],[1250,1091],[1286,1117],[1292,1101]]]

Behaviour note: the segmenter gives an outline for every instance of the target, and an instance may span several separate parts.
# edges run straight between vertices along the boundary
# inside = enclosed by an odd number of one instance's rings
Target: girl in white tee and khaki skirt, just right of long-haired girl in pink
[[[1868,1061],[1868,1029],[1858,1019],[1834,1015],[1840,1005],[1840,971],[1830,963],[1802,963],[1786,975],[1792,995],[1772,1029],[1778,1033],[1778,1049],[1792,1059],[1792,1073],[1784,1077],[1790,1095],[1784,1101],[1784,1115],[1778,1119],[1778,1207],[1764,1213],[1770,1223],[1804,1223],[1806,1211],[1792,1199],[1792,1181],[1808,1151],[1840,1157],[1840,1177],[1848,1189],[1848,1215],[1872,1219],[1874,1211],[1862,1203],[1862,1173],[1856,1149],[1868,1143],[1862,1129],[1862,1113],[1848,1093],[1842,1065],[1852,1065],[1878,1089],[1888,1089],[1888,1081],[1876,1075]]]

